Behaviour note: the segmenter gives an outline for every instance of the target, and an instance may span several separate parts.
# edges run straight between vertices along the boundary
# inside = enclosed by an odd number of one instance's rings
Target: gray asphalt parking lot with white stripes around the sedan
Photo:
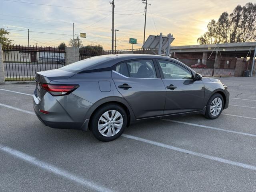
[[[219,79],[218,119],[151,120],[112,142],[44,126],[35,84],[0,85],[0,191],[255,191],[256,77]]]

